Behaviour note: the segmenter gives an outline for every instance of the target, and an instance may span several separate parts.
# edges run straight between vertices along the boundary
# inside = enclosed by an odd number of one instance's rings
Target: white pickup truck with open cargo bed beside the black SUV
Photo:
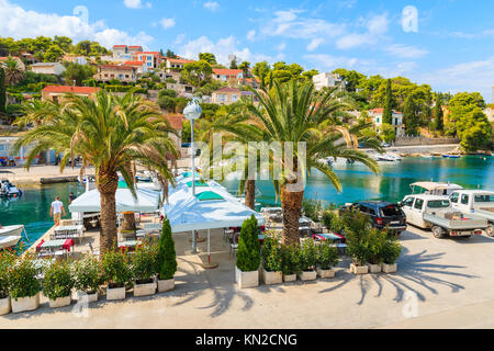
[[[487,220],[475,215],[454,212],[449,199],[440,195],[408,195],[401,203],[406,222],[420,227],[431,228],[436,238],[471,237],[481,235],[487,227]]]

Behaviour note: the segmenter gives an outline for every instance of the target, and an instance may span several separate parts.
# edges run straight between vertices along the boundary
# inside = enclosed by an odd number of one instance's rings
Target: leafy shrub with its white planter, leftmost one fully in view
[[[40,307],[41,283],[36,275],[37,269],[31,254],[18,259],[9,270],[10,297],[14,314]]]

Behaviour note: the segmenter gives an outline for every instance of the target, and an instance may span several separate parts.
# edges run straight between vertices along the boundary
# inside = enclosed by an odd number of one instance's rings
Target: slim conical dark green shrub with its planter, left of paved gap
[[[175,273],[177,272],[177,257],[170,222],[162,222],[161,236],[156,254],[156,275],[158,278],[158,292],[165,293],[175,288]]]

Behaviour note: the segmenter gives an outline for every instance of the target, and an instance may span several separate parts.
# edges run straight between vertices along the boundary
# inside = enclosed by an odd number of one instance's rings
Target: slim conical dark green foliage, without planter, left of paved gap
[[[177,272],[177,253],[175,242],[171,236],[170,220],[162,220],[161,236],[158,242],[157,273],[159,280],[173,279]]]

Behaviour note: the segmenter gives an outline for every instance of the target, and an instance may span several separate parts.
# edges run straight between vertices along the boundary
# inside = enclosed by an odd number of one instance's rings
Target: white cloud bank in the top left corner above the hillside
[[[0,0],[0,35],[20,39],[64,35],[75,42],[91,39],[111,48],[115,44],[139,44],[143,46],[153,42],[153,37],[145,32],[131,35],[127,32],[108,27],[104,22],[87,23],[76,15],[58,15],[26,11],[18,4]]]

